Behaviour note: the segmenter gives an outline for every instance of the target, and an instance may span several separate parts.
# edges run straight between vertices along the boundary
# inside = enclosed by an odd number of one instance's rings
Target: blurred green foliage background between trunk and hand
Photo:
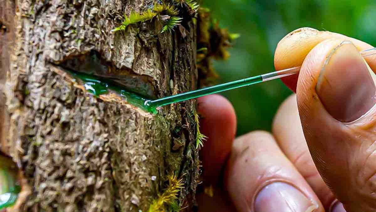
[[[338,32],[376,45],[375,0],[204,0],[221,27],[239,33],[227,61],[215,61],[220,82],[274,71],[278,41],[299,27]],[[271,130],[282,101],[292,92],[274,80],[222,93],[232,102],[237,134]]]

